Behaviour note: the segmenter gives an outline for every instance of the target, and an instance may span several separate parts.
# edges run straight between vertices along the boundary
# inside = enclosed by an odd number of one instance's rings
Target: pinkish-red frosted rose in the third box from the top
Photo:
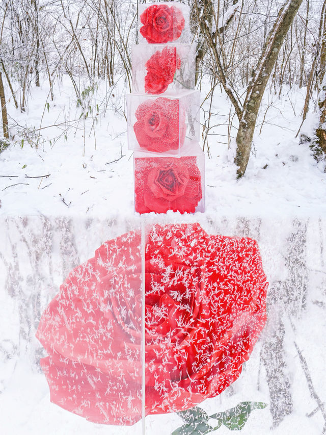
[[[144,101],[136,110],[133,131],[142,148],[164,152],[178,149],[185,138],[185,113],[179,100],[159,97]]]

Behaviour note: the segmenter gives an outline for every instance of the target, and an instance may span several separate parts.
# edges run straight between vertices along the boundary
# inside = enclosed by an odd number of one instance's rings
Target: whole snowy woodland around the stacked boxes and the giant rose
[[[269,281],[268,323],[249,362],[202,406],[261,400],[268,406],[243,433],[326,434],[326,1],[188,4],[206,213],[166,220],[255,238]],[[107,433],[50,403],[35,331],[69,271],[140,224],[125,107],[137,11],[135,0],[0,4],[4,433]],[[182,424],[177,415],[147,421],[157,435]]]

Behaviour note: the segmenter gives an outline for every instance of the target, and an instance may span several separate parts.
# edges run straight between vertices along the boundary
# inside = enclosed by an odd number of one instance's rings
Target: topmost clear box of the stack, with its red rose
[[[191,43],[189,7],[182,3],[146,3],[138,6],[140,44]]]

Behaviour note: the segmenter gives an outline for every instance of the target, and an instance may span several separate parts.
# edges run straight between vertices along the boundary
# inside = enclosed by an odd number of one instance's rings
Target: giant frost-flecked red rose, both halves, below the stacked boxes
[[[199,224],[145,237],[146,414],[186,410],[241,372],[266,321],[257,243]],[[141,418],[141,234],[105,242],[71,271],[37,337],[51,401],[96,423]]]

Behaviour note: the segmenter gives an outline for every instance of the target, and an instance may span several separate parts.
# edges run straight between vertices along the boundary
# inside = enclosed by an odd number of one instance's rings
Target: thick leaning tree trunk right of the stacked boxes
[[[238,177],[241,177],[246,171],[261,99],[284,38],[301,3],[302,0],[287,0],[280,9],[273,29],[271,29],[267,36],[262,55],[256,68],[253,70],[236,137],[235,164],[238,166]]]

